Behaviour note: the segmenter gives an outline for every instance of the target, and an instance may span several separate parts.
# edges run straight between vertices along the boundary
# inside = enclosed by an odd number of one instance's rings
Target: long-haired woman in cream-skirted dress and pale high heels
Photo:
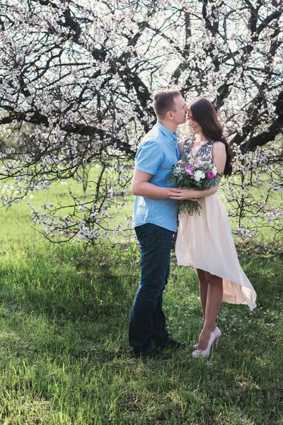
[[[211,160],[219,176],[229,176],[231,149],[212,103],[200,98],[190,104],[187,115],[193,137],[179,142],[181,154]],[[218,186],[205,191],[182,188],[169,191],[170,198],[176,200],[199,198],[202,207],[200,215],[180,212],[175,246],[178,264],[193,266],[200,280],[204,326],[192,353],[195,358],[209,357],[214,341],[218,344],[221,331],[216,327],[216,317],[221,301],[248,304],[250,310],[256,306],[256,293],[238,262],[229,217],[217,189]]]

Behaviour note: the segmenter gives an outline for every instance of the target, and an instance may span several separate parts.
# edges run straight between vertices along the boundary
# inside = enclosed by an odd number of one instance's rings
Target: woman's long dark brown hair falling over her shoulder
[[[217,113],[214,106],[206,98],[199,98],[190,103],[190,111],[192,117],[202,128],[204,137],[207,140],[222,142],[226,149],[226,164],[224,168],[224,176],[230,176],[232,173],[232,158],[233,153],[229,147],[226,137],[223,135],[223,127],[219,123]]]

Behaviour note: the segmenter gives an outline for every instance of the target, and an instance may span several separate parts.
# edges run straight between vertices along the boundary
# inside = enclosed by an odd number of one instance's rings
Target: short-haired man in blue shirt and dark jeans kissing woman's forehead
[[[162,303],[178,213],[178,203],[169,198],[166,186],[180,159],[176,130],[185,123],[188,108],[176,90],[158,91],[153,107],[158,121],[139,145],[132,180],[134,229],[141,248],[141,280],[129,322],[133,357],[185,345],[169,337]]]

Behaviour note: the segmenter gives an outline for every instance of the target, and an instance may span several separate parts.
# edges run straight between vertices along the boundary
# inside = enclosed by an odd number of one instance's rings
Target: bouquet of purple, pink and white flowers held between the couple
[[[221,175],[220,175],[221,177]],[[173,166],[170,183],[177,183],[178,187],[202,191],[219,184],[216,166],[211,161],[202,158],[183,157]],[[197,212],[200,215],[200,202],[183,199],[179,202],[179,209],[190,215]]]

